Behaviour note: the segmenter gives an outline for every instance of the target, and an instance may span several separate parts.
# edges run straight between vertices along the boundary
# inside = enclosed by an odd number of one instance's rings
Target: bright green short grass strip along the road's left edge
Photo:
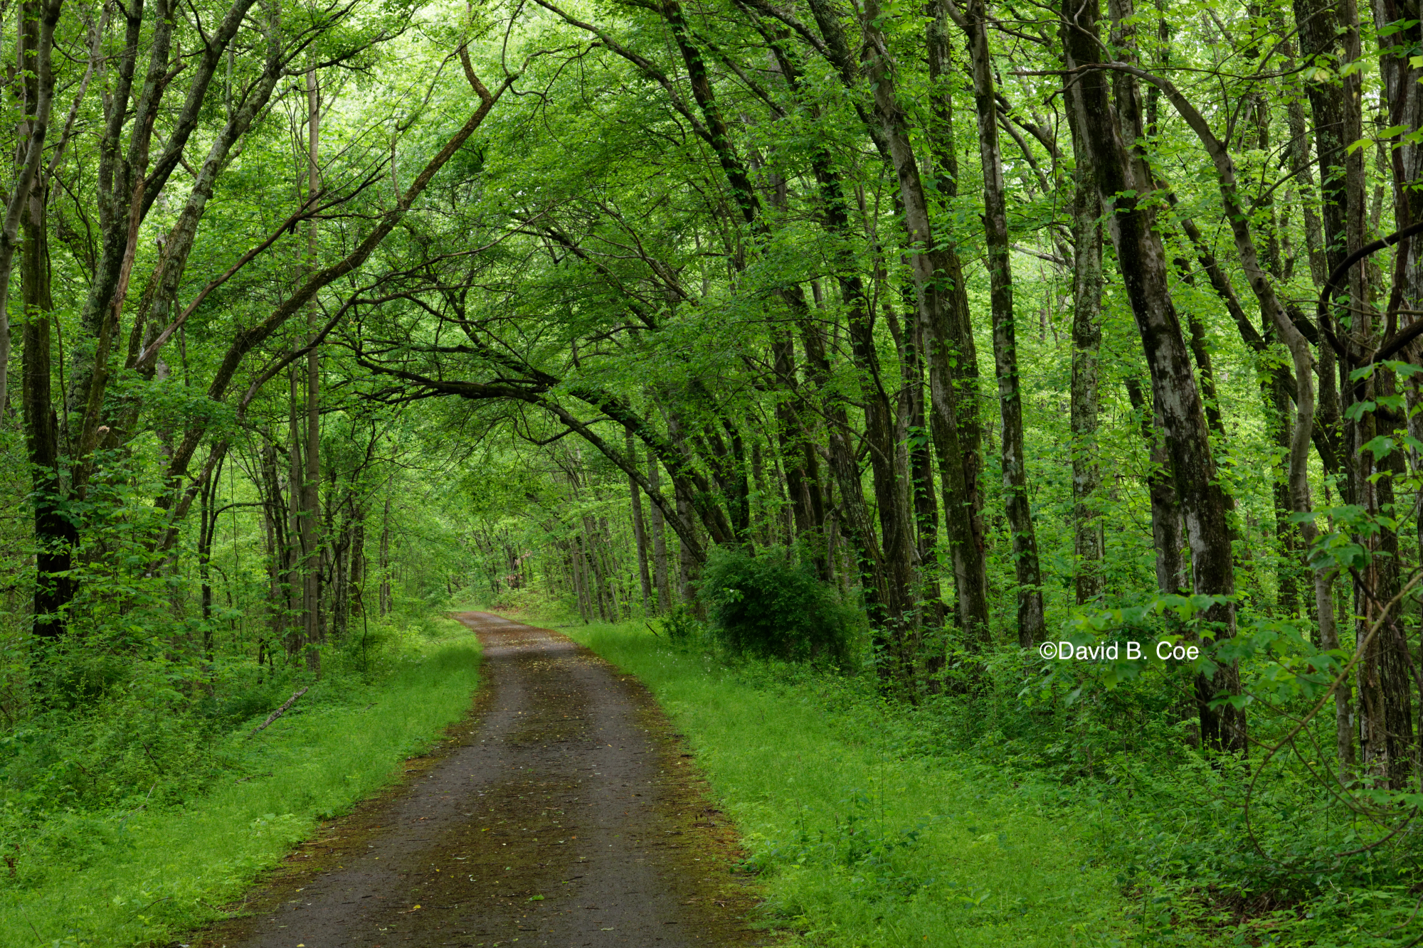
[[[376,683],[314,686],[255,739],[262,717],[246,722],[218,749],[236,766],[186,804],[55,817],[0,878],[0,945],[168,942],[221,918],[218,905],[464,715],[478,666],[472,635],[427,643]]]

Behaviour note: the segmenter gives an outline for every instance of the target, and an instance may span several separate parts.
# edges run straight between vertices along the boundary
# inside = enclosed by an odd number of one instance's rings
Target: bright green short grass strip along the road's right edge
[[[868,692],[757,676],[642,622],[572,638],[657,696],[761,871],[773,924],[852,948],[1131,944],[1131,907],[1059,807],[948,756],[901,757]],[[1056,818],[1047,818],[1052,813]],[[1150,944],[1192,944],[1175,934]]]

